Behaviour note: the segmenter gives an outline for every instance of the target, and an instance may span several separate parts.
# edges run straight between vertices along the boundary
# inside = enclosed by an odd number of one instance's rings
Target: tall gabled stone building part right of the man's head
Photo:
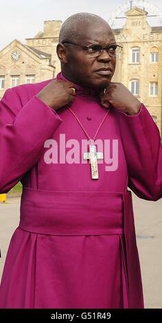
[[[114,82],[122,82],[146,105],[162,133],[162,27],[150,27],[148,12],[132,8],[122,29],[114,30],[123,46]]]

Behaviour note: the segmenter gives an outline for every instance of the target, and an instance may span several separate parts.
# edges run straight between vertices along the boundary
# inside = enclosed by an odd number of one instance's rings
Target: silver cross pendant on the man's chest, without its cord
[[[91,163],[91,177],[92,179],[98,179],[98,165],[97,159],[103,159],[103,153],[96,152],[96,146],[91,142],[89,146],[89,153],[83,153],[83,159],[90,159]]]

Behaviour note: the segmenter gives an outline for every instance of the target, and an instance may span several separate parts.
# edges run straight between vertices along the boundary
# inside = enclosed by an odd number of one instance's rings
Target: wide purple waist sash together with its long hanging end
[[[23,186],[19,227],[49,235],[78,236],[124,234],[129,308],[143,308],[141,271],[130,191],[58,192]]]

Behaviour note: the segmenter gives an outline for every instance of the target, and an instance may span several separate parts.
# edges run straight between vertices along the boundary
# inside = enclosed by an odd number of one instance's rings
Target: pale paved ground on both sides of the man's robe
[[[162,309],[162,199],[144,201],[132,194],[146,309]],[[19,225],[20,197],[0,203],[0,279],[10,238]]]

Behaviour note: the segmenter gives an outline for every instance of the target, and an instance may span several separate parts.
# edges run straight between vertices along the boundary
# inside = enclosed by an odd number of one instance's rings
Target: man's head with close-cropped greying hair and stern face
[[[93,56],[87,47],[94,44],[105,48],[115,43],[106,20],[88,12],[73,14],[62,24],[57,45],[62,75],[81,87],[105,88],[111,82],[116,58],[106,50]],[[111,72],[97,72],[103,68],[111,68]]]

